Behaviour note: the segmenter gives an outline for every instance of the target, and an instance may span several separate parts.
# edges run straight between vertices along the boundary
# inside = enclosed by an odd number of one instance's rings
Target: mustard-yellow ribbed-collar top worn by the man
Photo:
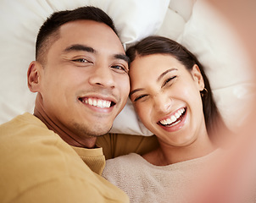
[[[71,147],[30,113],[0,126],[0,156],[2,203],[129,202],[100,176],[102,148]]]

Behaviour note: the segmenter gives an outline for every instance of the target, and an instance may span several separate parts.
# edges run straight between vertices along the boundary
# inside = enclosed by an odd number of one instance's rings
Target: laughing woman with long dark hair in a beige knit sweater
[[[131,202],[187,202],[217,150],[225,123],[198,59],[175,41],[149,36],[130,47],[131,102],[159,148],[108,160],[103,177]]]

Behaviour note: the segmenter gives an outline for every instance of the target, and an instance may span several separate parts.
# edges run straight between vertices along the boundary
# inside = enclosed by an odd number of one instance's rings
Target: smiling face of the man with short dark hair
[[[127,72],[125,51],[109,26],[92,20],[62,25],[41,73],[42,107],[75,136],[106,134],[125,107]]]

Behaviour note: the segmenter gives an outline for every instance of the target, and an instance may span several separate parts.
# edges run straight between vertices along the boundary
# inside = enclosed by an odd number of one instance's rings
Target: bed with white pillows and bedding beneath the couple
[[[36,94],[26,85],[35,60],[36,34],[53,11],[92,5],[114,19],[124,47],[150,35],[180,42],[206,68],[225,123],[236,130],[248,118],[254,94],[252,63],[228,22],[203,0],[2,0],[0,2],[0,123],[33,112]],[[115,119],[114,133],[152,135],[128,100]]]

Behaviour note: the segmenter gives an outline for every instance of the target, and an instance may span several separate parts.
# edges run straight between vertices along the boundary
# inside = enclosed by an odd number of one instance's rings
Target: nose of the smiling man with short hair
[[[89,77],[89,83],[91,85],[101,85],[105,88],[114,88],[113,70],[108,65],[101,64],[95,66]]]

